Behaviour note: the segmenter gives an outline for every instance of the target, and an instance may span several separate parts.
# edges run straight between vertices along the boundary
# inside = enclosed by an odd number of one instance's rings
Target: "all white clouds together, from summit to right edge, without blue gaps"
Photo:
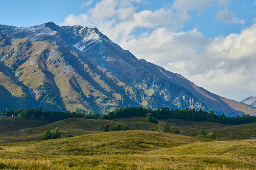
[[[244,24],[227,8],[229,0],[175,0],[165,8],[138,11],[134,4],[139,2],[101,0],[85,14],[69,15],[63,25],[96,26],[138,59],[180,73],[224,97],[256,95],[256,23],[240,34],[212,39],[197,29],[177,31],[192,19],[189,11],[214,6],[226,7],[217,11],[216,21]],[[133,34],[140,28],[148,31]]]

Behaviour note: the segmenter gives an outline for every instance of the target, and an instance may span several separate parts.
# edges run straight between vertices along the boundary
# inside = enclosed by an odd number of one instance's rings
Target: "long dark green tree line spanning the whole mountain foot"
[[[19,109],[19,110],[2,110],[0,116],[22,116],[24,118],[45,118],[53,120],[61,120],[68,118],[84,118],[84,119],[114,119],[130,116],[146,117],[146,121],[157,123],[157,119],[172,118],[172,119],[189,119],[195,121],[208,120],[218,123],[240,125],[245,123],[256,122],[255,116],[243,115],[237,117],[226,117],[225,114],[216,115],[213,111],[207,112],[195,109],[173,110],[168,107],[162,109],[149,110],[141,107],[128,107],[119,109],[114,112],[109,112],[106,115],[99,114],[83,114],[70,111],[52,111],[42,109]]]

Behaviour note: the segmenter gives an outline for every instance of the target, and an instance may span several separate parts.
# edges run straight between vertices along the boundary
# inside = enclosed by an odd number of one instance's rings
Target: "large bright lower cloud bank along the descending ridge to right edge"
[[[138,58],[180,73],[213,93],[238,100],[256,93],[255,44],[256,24],[240,34],[210,40],[196,29],[172,33],[160,28],[121,43]]]

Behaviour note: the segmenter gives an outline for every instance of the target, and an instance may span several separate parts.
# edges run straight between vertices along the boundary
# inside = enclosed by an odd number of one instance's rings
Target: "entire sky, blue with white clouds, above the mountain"
[[[256,96],[255,0],[2,0],[0,24],[97,27],[212,93]]]

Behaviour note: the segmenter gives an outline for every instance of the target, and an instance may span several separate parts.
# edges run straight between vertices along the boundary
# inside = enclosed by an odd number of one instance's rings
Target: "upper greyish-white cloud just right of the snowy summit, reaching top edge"
[[[65,18],[63,25],[97,26],[114,42],[129,39],[137,27],[166,26],[175,31],[190,19],[188,14],[174,12],[171,8],[159,8],[136,12],[132,3],[140,0],[101,0],[86,14]]]

